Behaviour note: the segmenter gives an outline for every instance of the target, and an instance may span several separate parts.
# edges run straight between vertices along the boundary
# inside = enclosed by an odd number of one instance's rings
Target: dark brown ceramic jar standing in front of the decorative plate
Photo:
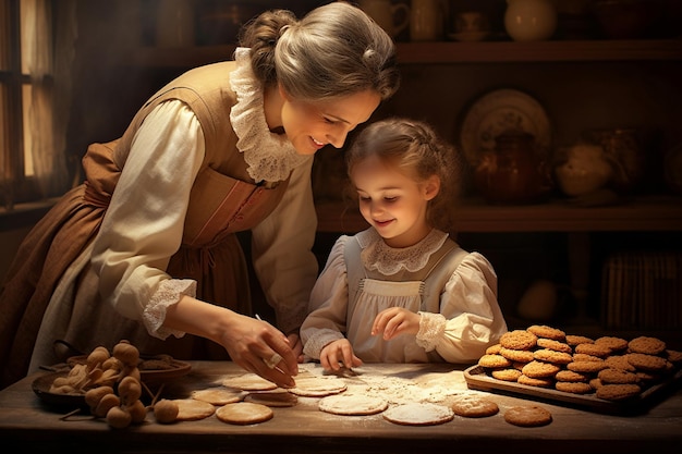
[[[476,167],[475,184],[490,204],[529,204],[548,192],[545,163],[535,149],[535,137],[506,132],[496,148],[484,152]]]

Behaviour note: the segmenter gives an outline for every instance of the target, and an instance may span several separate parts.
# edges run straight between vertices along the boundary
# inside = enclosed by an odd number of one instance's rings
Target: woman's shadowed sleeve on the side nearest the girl
[[[312,168],[312,157],[294,168],[282,201],[253,229],[254,270],[285,333],[301,327],[318,271]]]

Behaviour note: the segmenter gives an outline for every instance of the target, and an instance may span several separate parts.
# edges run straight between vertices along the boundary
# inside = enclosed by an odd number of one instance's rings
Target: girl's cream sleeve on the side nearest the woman
[[[349,238],[340,236],[331,248],[313,287],[308,316],[301,327],[303,353],[314,359],[319,359],[325,345],[344,338],[349,290],[343,250]]]

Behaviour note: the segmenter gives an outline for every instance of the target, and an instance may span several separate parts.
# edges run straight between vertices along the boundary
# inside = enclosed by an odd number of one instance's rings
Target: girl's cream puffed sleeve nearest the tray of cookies
[[[468,254],[450,277],[440,311],[421,315],[417,340],[433,344],[449,363],[476,360],[507,332],[497,300],[497,274],[478,253]]]

